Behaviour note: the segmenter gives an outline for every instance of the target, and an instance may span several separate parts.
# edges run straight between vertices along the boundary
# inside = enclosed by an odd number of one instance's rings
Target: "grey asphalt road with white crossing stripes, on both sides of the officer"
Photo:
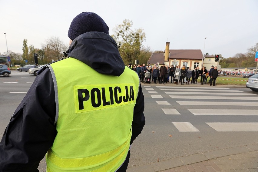
[[[12,71],[10,77],[0,76],[0,136],[34,79],[35,76],[28,72]],[[142,86],[146,125],[132,144],[128,168],[157,162],[157,159],[162,161],[201,152],[258,144],[258,92],[248,88],[221,88],[209,85]],[[169,105],[158,104],[156,101],[167,101]],[[187,105],[186,102],[196,105]],[[236,104],[237,102],[240,102],[240,105]],[[243,105],[244,103],[246,105]],[[210,115],[200,115],[200,112]],[[235,128],[237,131],[229,131]],[[39,169],[45,170],[45,160],[42,160]]]

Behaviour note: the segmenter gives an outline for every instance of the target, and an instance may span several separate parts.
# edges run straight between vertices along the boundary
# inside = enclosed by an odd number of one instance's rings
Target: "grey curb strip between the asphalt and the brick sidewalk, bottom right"
[[[225,157],[229,155],[241,154],[246,152],[258,151],[258,144],[239,146],[227,149],[221,149],[216,151],[209,151],[199,154],[193,154],[185,157],[173,158],[170,160],[164,160],[160,162],[155,162],[143,166],[127,168],[127,172],[158,172],[162,170],[167,170],[175,167],[180,167],[184,165],[194,164],[206,160],[211,160],[214,158]]]

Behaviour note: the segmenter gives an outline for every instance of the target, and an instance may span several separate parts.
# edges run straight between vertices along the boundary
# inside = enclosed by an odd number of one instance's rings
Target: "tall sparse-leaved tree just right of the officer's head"
[[[114,34],[111,35],[117,43],[121,43],[119,52],[125,64],[134,64],[134,60],[144,51],[142,43],[146,38],[145,33],[142,28],[132,30],[132,25],[131,20],[125,19],[113,28]]]

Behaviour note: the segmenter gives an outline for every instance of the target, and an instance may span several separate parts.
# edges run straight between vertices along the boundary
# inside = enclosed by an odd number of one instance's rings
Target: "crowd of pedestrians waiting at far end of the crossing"
[[[164,63],[162,64],[162,66],[159,67],[157,65],[151,67],[150,64],[148,64],[147,66],[145,66],[145,64],[143,64],[142,66],[134,65],[134,67],[129,64],[128,67],[138,74],[141,82],[144,82],[145,73],[147,71],[150,72],[151,82],[154,82],[155,84],[157,84],[157,82],[159,82],[159,84],[165,84],[169,83],[170,81],[170,83],[174,84],[180,83],[181,85],[189,85],[190,81],[191,84],[197,84],[198,79],[200,79],[201,85],[210,84],[210,86],[216,86],[216,78],[219,75],[216,66],[212,66],[210,70],[207,70],[204,66],[201,69],[197,66],[194,67],[192,70],[190,67],[186,68],[185,65],[183,65],[183,67],[180,67],[179,65],[165,66]]]

